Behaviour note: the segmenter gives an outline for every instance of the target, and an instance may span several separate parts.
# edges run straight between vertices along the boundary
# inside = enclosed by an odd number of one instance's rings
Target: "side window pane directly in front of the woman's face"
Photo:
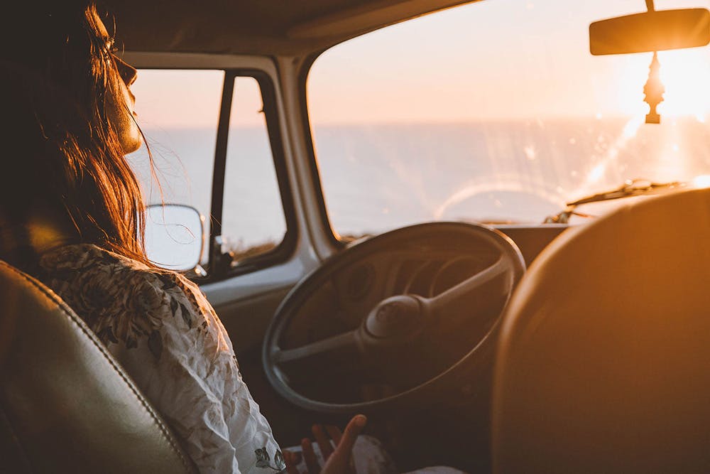
[[[138,71],[131,90],[154,173],[145,144],[128,159],[148,204],[190,205],[209,217],[223,82],[217,70]],[[204,230],[209,235],[209,218]]]

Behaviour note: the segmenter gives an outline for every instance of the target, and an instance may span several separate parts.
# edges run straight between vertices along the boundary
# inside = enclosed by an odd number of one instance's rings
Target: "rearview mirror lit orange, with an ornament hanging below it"
[[[593,55],[645,53],[695,48],[710,43],[710,11],[656,10],[589,25]]]

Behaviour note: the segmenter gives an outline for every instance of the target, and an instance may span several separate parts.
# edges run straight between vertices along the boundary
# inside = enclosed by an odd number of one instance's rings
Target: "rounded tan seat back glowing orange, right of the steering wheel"
[[[503,323],[494,470],[710,472],[710,191],[568,232]]]

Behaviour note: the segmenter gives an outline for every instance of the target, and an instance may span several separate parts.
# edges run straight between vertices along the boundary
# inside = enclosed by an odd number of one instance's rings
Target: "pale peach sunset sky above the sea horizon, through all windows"
[[[657,9],[710,0],[656,0]],[[338,45],[315,63],[315,124],[605,117],[644,113],[650,53],[594,57],[589,23],[645,11],[643,0],[485,0]],[[661,111],[710,112],[710,48],[660,53]],[[142,71],[133,90],[143,124],[213,127],[221,73]],[[241,124],[258,123],[256,88]],[[249,98],[251,97],[251,99]],[[665,109],[664,109],[665,108]],[[186,114],[185,111],[190,113]]]

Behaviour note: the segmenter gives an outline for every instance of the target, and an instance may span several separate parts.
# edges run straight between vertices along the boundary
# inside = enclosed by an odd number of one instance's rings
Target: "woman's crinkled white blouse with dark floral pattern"
[[[38,276],[119,360],[201,473],[285,468],[229,336],[195,284],[91,244],[44,254]]]

